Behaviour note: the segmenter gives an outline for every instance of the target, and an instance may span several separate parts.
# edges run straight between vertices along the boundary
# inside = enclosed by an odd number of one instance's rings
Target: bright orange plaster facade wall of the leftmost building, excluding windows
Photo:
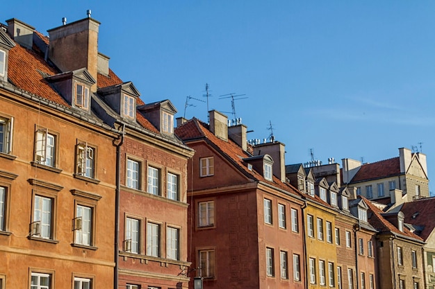
[[[12,155],[16,157],[10,159],[4,154],[0,157],[3,176],[0,182],[10,185],[6,229],[11,234],[0,234],[0,274],[6,275],[6,288],[28,288],[31,272],[51,274],[57,288],[72,288],[74,277],[89,277],[97,287],[113,287],[115,167],[112,164],[116,136],[4,91],[0,91],[0,103],[0,113],[14,117]],[[35,125],[57,135],[58,161],[54,170],[31,165]],[[98,181],[74,177],[78,140],[96,148]],[[5,177],[8,173],[17,177],[8,179]],[[54,240],[29,237],[34,194],[52,200]],[[77,203],[93,208],[92,246],[72,245]]]

